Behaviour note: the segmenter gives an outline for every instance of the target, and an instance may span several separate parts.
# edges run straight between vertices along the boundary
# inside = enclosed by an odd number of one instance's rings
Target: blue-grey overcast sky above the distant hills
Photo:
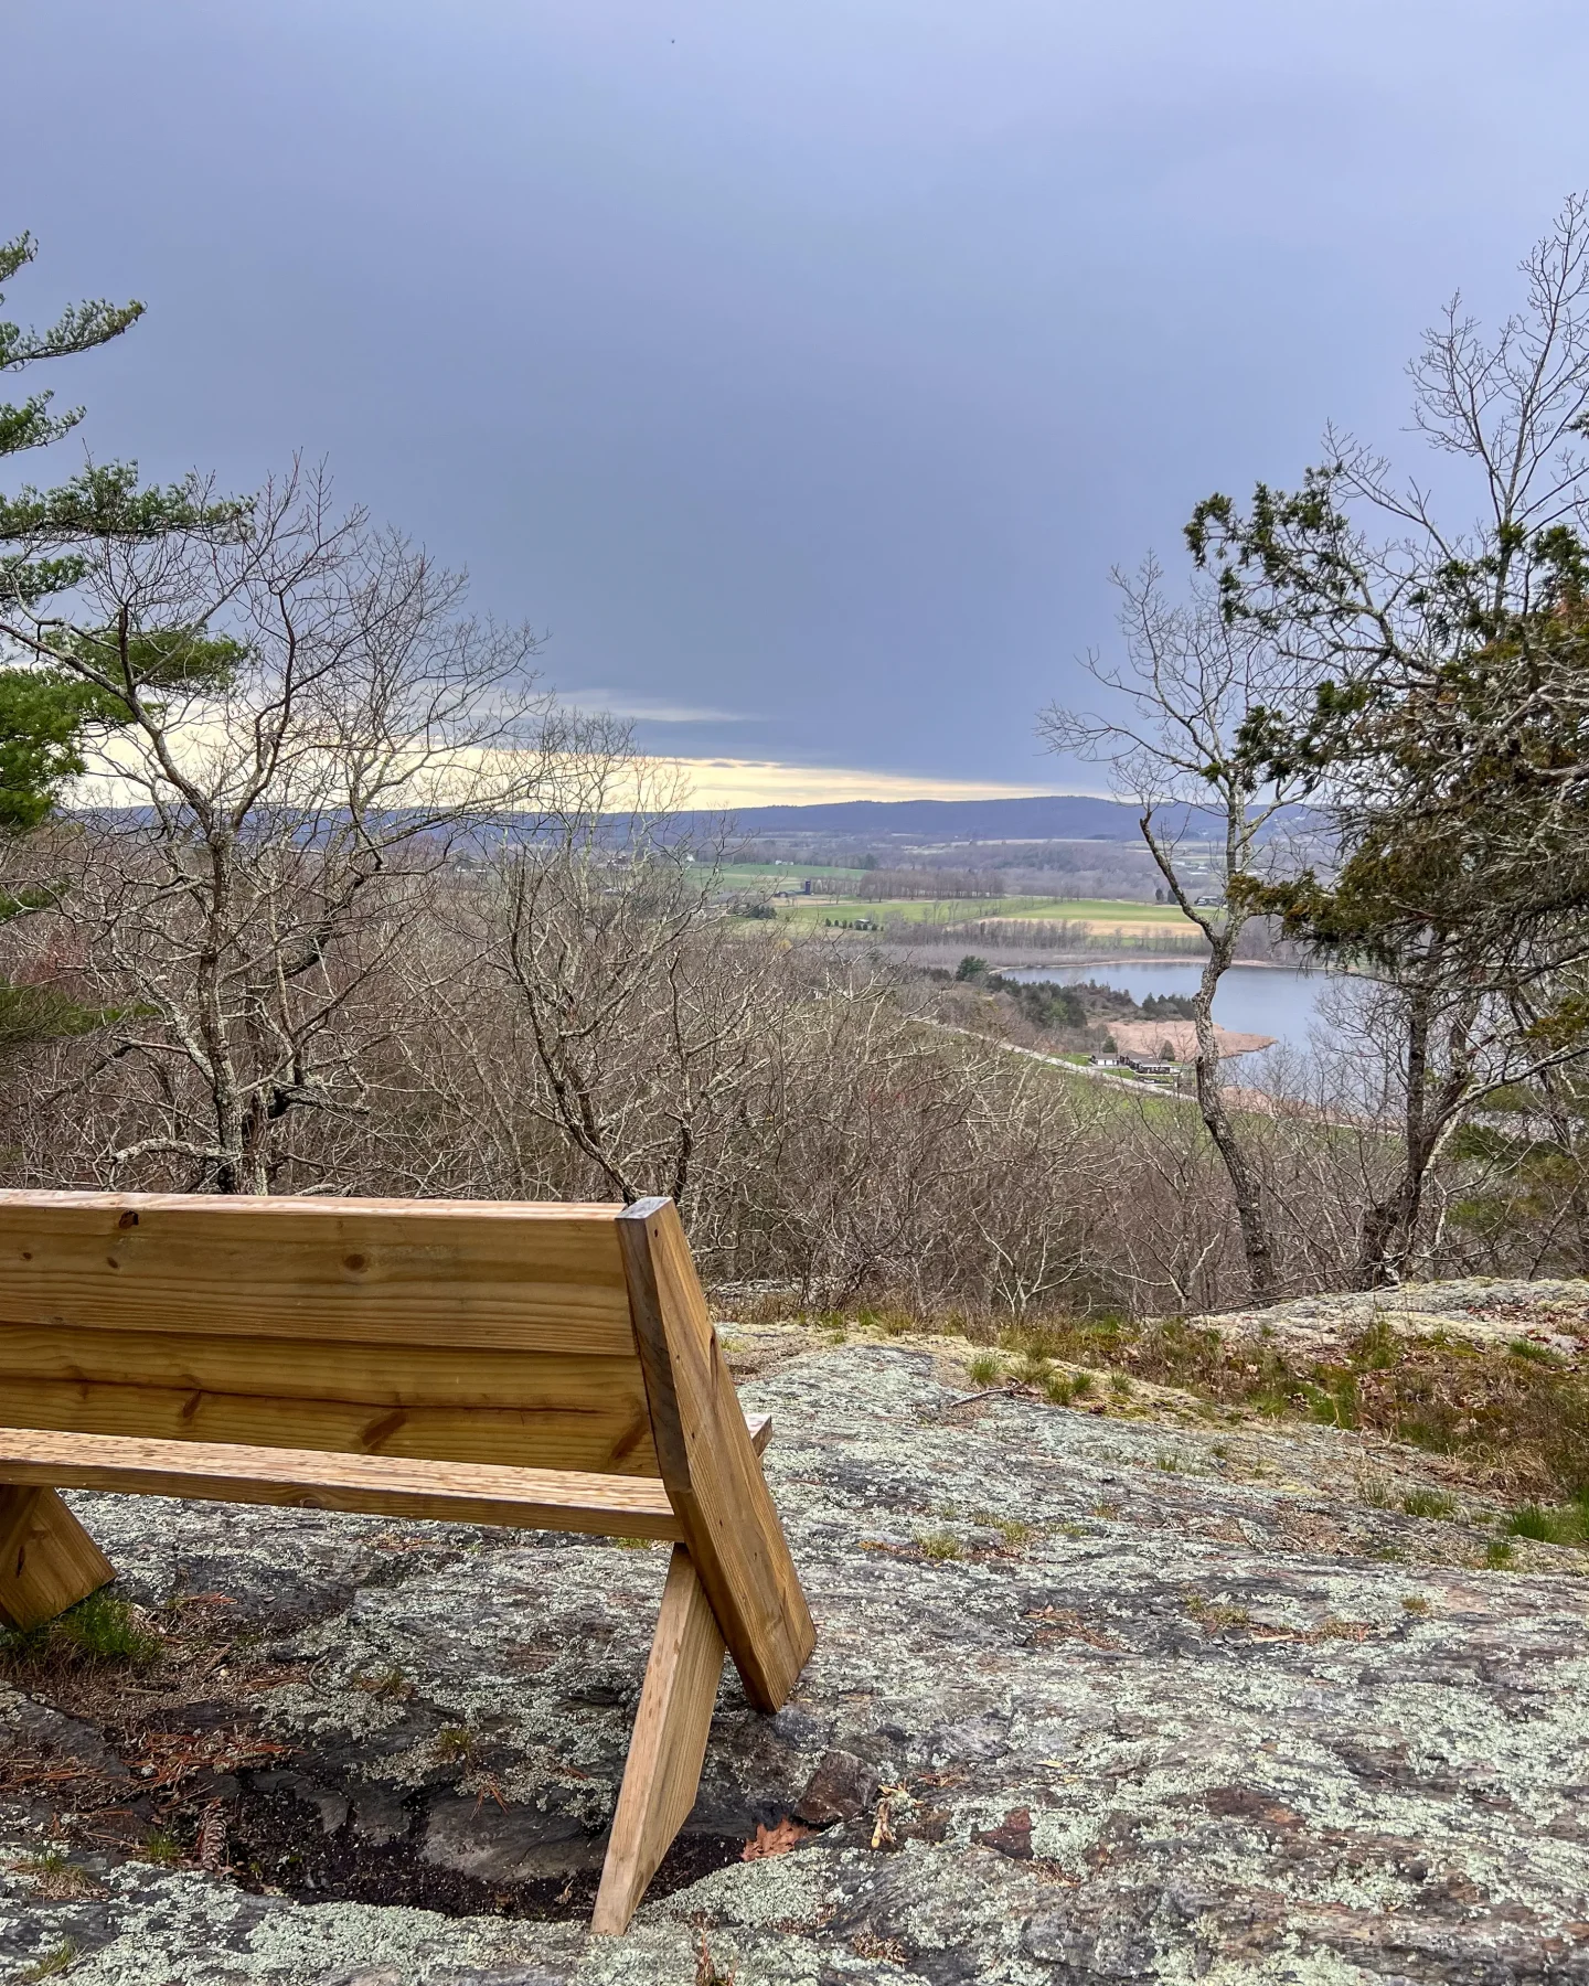
[[[1410,449],[1420,328],[1504,310],[1589,185],[1583,0],[10,0],[0,36],[0,232],[44,244],[6,316],[149,304],[52,367],[95,455],[326,455],[562,689],[783,767],[743,798],[1094,784],[1033,713],[1110,564],[1327,417]]]

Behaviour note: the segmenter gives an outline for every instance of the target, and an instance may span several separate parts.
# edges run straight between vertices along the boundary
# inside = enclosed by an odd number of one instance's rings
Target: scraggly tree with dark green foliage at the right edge
[[[1341,862],[1253,902],[1396,989],[1400,1178],[1365,1207],[1359,1277],[1420,1247],[1424,1182],[1500,1084],[1589,1055],[1589,199],[1484,334],[1454,298],[1408,367],[1462,522],[1349,435],[1295,493],[1202,502],[1188,540],[1231,628],[1317,683],[1257,727],[1309,773]]]

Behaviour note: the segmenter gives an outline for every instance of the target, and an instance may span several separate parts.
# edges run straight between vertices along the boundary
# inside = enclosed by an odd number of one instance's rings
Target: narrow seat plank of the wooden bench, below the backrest
[[[479,1462],[0,1428],[0,1484],[131,1490],[608,1537],[679,1537],[661,1484],[584,1470],[505,1470]]]

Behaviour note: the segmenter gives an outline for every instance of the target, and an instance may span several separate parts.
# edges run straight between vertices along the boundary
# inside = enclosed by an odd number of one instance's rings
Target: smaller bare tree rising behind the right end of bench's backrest
[[[717,1118],[777,1057],[779,939],[719,902],[717,848],[675,832],[663,765],[614,735],[566,786],[554,820],[505,836],[455,896],[475,963],[437,973],[431,999],[516,1176],[544,1166],[542,1126],[586,1192],[683,1204],[721,1160]]]

